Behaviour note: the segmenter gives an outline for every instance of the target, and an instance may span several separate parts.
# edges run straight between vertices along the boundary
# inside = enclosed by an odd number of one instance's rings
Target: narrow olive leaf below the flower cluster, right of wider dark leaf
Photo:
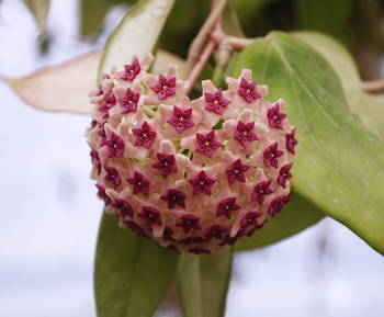
[[[184,317],[224,316],[231,257],[231,248],[211,256],[181,254],[177,284]]]

